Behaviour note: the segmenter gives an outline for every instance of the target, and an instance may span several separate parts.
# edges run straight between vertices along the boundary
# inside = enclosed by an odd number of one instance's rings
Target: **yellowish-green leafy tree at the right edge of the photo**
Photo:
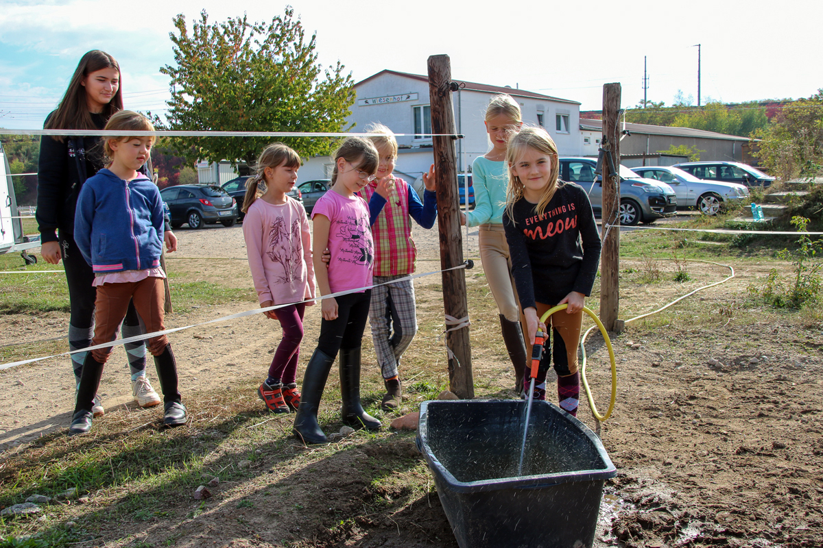
[[[780,180],[823,175],[823,89],[785,105],[756,136],[760,164]]]

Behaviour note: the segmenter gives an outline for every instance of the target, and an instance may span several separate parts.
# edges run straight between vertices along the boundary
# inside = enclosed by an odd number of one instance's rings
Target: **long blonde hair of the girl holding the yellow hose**
[[[549,205],[555,191],[560,188],[560,162],[557,159],[557,145],[542,127],[523,127],[509,140],[506,149],[506,163],[509,165],[509,185],[506,188],[506,213],[514,222],[514,204],[523,197],[523,182],[514,174],[514,166],[523,158],[527,149],[538,150],[551,157],[551,173],[549,184],[543,189],[540,201],[537,202],[537,214],[543,214],[546,205]]]

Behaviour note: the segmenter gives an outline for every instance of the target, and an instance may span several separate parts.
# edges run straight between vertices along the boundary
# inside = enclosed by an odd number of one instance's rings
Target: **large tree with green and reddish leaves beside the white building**
[[[204,10],[191,31],[181,14],[174,17],[175,65],[160,71],[170,76],[172,97],[160,127],[186,131],[346,131],[354,103],[350,74],[343,65],[323,71],[314,53],[317,35],[306,41],[300,18],[286,7],[269,23],[249,22],[244,15],[209,23]],[[240,160],[253,165],[265,137],[174,137],[170,145],[194,162]],[[328,154],[328,138],[279,138],[301,156]]]

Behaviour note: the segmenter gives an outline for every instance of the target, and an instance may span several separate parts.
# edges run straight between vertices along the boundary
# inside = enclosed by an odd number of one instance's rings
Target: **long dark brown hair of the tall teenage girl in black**
[[[80,58],[74,70],[72,80],[68,83],[66,94],[60,100],[57,110],[45,124],[45,129],[90,129],[96,130],[91,120],[88,103],[86,103],[86,86],[83,80],[92,72],[114,68],[120,72],[120,65],[108,53],[93,49]],[[121,75],[122,76],[122,75]],[[117,93],[103,107],[103,117],[108,120],[114,113],[123,110],[123,81],[118,85]],[[54,140],[63,142],[63,136],[53,136]]]

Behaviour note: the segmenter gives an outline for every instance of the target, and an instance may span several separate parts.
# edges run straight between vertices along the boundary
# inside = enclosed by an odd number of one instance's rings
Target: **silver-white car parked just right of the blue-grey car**
[[[632,168],[640,177],[662,181],[677,194],[677,209],[696,208],[702,214],[716,215],[723,209],[723,202],[747,200],[749,189],[736,182],[704,181],[683,171],[667,166]]]

